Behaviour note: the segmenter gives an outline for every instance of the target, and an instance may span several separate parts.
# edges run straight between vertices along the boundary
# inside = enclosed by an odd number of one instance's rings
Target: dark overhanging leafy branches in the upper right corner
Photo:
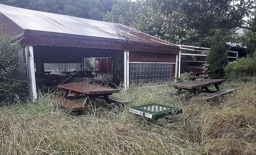
[[[240,27],[256,31],[255,0],[157,0],[167,15],[186,15],[193,27],[205,32],[214,27]],[[245,20],[244,17],[253,19]]]

